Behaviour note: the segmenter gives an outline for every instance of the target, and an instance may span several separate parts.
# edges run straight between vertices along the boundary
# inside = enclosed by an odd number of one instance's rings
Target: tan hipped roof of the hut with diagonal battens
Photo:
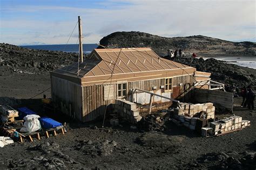
[[[106,48],[94,49],[89,59],[79,63],[79,67],[76,62],[54,72],[70,76],[91,77],[188,67],[190,66],[160,58],[150,48]]]

